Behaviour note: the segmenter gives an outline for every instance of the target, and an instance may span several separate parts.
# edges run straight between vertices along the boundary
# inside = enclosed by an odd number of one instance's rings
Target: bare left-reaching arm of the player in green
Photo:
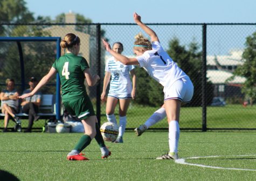
[[[33,91],[31,91],[30,93],[27,93],[27,94],[23,94],[21,96],[18,96],[18,98],[20,99],[24,99],[24,98],[27,98],[27,97],[31,97],[33,96],[34,94],[37,93],[37,91],[43,87],[47,82],[49,82],[49,80],[51,80],[52,76],[56,74],[56,69],[55,68],[51,68],[49,73],[47,73],[43,79],[40,80],[40,82],[38,83],[38,85],[33,89]]]

